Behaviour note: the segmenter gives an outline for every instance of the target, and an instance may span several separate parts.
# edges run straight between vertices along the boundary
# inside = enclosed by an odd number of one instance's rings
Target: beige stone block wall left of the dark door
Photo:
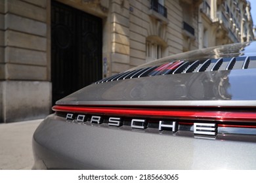
[[[0,1],[0,122],[50,112],[47,0]]]

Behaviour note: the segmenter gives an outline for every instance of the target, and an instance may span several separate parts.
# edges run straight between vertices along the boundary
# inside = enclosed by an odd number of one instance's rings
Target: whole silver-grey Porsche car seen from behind
[[[53,110],[33,169],[256,169],[256,42],[140,65]]]

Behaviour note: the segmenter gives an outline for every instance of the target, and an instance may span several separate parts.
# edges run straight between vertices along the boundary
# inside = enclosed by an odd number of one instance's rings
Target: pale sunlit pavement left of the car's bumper
[[[0,170],[32,168],[32,136],[41,121],[0,124]]]

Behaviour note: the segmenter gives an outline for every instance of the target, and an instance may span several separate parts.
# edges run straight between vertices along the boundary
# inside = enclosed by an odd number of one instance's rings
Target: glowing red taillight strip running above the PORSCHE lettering
[[[219,122],[256,122],[256,112],[168,110],[141,108],[81,107],[56,105],[54,111],[82,112],[117,116],[147,116],[155,118],[177,118],[186,120],[212,120]]]

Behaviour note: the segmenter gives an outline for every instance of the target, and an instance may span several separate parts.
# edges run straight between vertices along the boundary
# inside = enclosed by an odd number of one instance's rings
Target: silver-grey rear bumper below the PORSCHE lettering
[[[74,124],[54,114],[37,127],[33,153],[33,169],[256,169],[253,142]]]

